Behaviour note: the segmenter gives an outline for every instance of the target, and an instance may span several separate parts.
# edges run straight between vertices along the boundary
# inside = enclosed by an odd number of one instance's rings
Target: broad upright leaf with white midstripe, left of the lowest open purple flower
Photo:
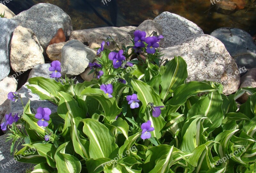
[[[96,120],[83,119],[83,122],[83,132],[90,141],[90,158],[109,158],[110,155],[118,148],[113,134],[111,134],[106,126]]]

